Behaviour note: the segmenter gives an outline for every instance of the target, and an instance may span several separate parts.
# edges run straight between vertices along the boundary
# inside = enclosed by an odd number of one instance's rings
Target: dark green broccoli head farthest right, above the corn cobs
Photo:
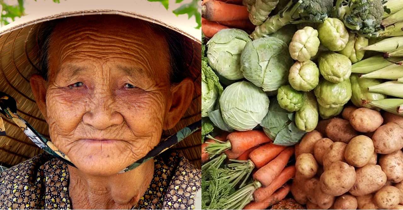
[[[337,0],[333,15],[354,32],[372,37],[380,30],[383,12],[382,0]]]

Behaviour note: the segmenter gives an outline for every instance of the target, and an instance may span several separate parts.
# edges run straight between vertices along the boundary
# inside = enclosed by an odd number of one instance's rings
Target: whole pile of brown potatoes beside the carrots
[[[403,209],[403,117],[346,107],[295,145],[291,192],[307,209]]]

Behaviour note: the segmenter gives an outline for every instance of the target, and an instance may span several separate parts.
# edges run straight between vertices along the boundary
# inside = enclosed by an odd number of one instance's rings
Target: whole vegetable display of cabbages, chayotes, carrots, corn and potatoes
[[[202,208],[403,209],[403,1],[203,0]]]

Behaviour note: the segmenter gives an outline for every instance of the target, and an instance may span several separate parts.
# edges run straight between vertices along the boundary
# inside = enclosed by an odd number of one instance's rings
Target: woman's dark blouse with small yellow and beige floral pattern
[[[181,153],[154,158],[154,178],[132,209],[194,209],[201,173]],[[69,169],[42,153],[0,173],[0,209],[71,209]]]

